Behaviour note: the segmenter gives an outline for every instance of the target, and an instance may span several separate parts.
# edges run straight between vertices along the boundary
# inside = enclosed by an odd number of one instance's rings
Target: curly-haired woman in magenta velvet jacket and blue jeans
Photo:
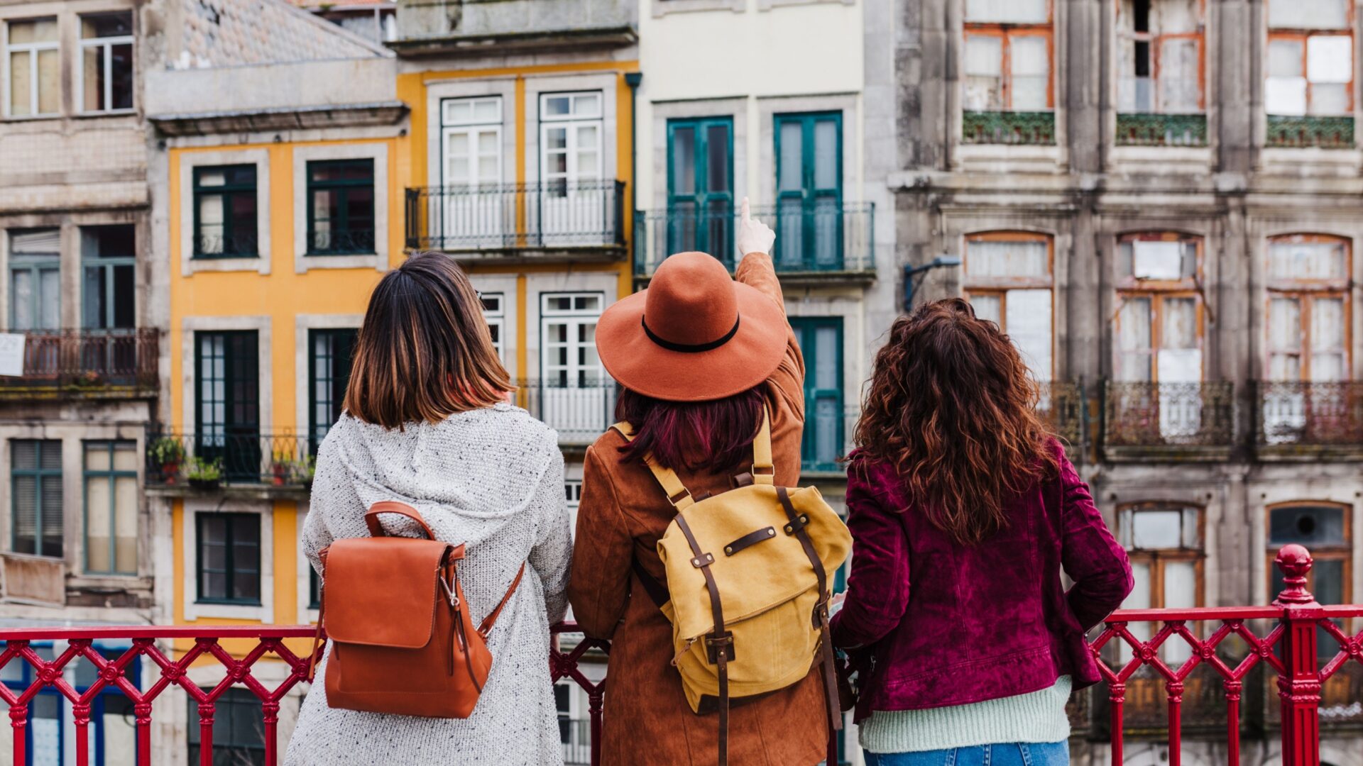
[[[833,617],[834,645],[860,657],[870,766],[1069,762],[1065,703],[1099,680],[1084,634],[1130,593],[1131,566],[1037,395],[960,298],[900,318],[876,353]]]

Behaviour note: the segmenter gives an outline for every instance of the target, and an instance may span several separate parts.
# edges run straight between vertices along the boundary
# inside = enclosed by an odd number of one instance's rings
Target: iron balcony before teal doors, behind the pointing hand
[[[785,282],[875,279],[875,206],[871,203],[815,204],[754,209],[754,218],[776,230],[771,260]],[[702,251],[718,258],[732,271],[736,266],[733,234],[739,213],[731,206],[713,210],[654,210],[635,214],[634,274],[653,277],[662,260],[676,252]]]

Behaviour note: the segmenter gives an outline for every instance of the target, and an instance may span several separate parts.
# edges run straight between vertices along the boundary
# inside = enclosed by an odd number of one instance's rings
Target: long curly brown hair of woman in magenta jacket
[[[1056,472],[1039,397],[998,324],[961,298],[931,303],[875,354],[855,457],[893,465],[934,526],[975,545],[1007,526],[1007,500]]]

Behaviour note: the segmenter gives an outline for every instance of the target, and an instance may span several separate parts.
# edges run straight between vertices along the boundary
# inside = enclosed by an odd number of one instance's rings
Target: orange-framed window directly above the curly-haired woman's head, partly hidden
[[[1033,232],[965,237],[965,296],[1013,338],[1037,380],[1055,376],[1054,243]]]

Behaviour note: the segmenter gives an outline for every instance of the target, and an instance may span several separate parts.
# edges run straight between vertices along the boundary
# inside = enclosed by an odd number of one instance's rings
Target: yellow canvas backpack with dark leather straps
[[[632,439],[630,424],[613,428]],[[658,541],[667,585],[637,562],[634,571],[672,623],[672,664],[691,710],[720,713],[720,766],[729,701],[785,688],[815,664],[830,732],[841,729],[827,602],[852,534],[816,488],[776,485],[770,413],[752,442],[752,470],[735,489],[696,500],[676,472],[652,455],[645,463],[677,515]]]

